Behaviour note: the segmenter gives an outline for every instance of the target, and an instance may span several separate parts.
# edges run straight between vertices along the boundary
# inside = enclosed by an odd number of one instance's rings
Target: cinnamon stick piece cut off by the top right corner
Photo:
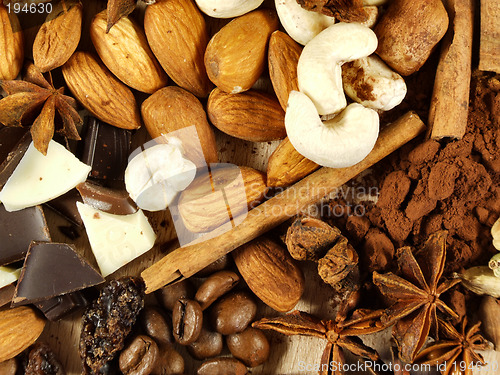
[[[481,0],[479,70],[500,73],[500,2]]]

